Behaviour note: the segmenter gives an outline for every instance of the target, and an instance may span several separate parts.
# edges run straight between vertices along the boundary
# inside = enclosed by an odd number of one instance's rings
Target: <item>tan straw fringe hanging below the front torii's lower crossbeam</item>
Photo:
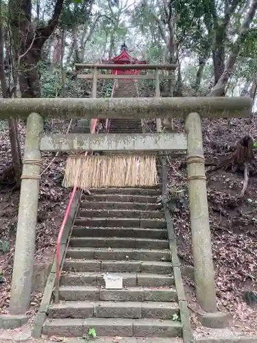
[[[154,186],[158,183],[155,156],[70,155],[62,186],[81,189]]]

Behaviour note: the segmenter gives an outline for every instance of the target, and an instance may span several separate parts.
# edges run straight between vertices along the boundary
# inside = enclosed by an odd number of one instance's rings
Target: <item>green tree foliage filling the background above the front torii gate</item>
[[[231,5],[232,0],[227,1]],[[146,5],[136,1],[129,5],[125,0],[95,0],[90,8],[90,0],[66,0],[62,9],[60,27],[66,35],[64,51],[64,84],[60,67],[55,69],[49,64],[39,65],[40,84],[44,97],[88,97],[90,96],[90,82],[79,82],[74,74],[68,70],[68,65],[73,67],[75,54],[70,53],[73,35],[77,39],[77,56],[80,56],[82,32],[88,37],[93,27],[93,34],[86,39],[84,62],[93,62],[99,58],[108,58],[110,50],[112,56],[119,53],[123,40],[133,48],[132,56],[145,59],[149,63],[162,63],[169,61],[169,8],[165,8],[167,1],[149,0]],[[245,19],[246,10],[242,10],[245,1],[238,0],[238,6],[231,16],[225,38],[225,54],[228,56],[234,46],[234,39],[238,35],[242,21]],[[181,63],[183,93],[192,95],[199,57],[206,62],[204,67],[199,94],[204,94],[213,76],[212,43],[216,34],[221,34],[224,18],[224,0],[175,0],[171,1],[173,18],[173,33],[175,43],[178,43],[178,56]],[[47,16],[52,13],[52,3],[46,4]],[[167,11],[168,10],[168,11]],[[97,20],[96,20],[97,19]],[[37,19],[37,25],[44,25],[44,20]],[[257,73],[257,18],[241,44],[241,52],[236,61],[235,70],[228,84],[228,94],[232,93],[235,85],[242,84]],[[76,30],[74,34],[74,28]],[[50,40],[49,40],[50,42]],[[47,46],[48,43],[45,44]],[[49,49],[51,44],[49,43]],[[66,62],[66,55],[69,54]],[[104,55],[104,56],[103,56]],[[186,59],[185,59],[186,57]],[[51,58],[49,58],[49,61]],[[240,68],[239,68],[240,66]],[[103,71],[101,71],[103,72]],[[112,93],[112,80],[99,82],[98,96],[110,97]],[[152,80],[138,82],[140,91],[154,93],[155,84]],[[167,80],[160,80],[161,91],[170,88]],[[65,92],[64,92],[65,91]],[[164,93],[162,93],[164,94]]]

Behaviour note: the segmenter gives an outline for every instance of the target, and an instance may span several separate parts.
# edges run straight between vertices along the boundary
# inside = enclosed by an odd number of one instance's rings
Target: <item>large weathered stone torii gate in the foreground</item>
[[[41,151],[180,151],[186,152],[196,294],[204,311],[217,312],[204,167],[201,118],[249,117],[248,97],[0,99],[0,118],[27,118],[21,198],[16,233],[10,314],[29,309]],[[44,118],[184,118],[186,134],[45,134]]]

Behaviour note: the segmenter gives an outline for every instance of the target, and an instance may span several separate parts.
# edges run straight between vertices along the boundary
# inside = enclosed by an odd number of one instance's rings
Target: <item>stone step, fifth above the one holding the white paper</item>
[[[76,218],[76,226],[101,226],[101,227],[114,227],[114,228],[166,228],[165,220],[154,219],[143,219],[143,218]]]

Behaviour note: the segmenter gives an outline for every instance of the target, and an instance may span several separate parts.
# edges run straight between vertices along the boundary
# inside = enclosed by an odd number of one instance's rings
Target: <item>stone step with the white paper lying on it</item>
[[[97,272],[67,272],[62,273],[60,277],[60,285],[62,286],[83,286],[83,285],[98,285],[105,286],[103,279],[105,273]],[[174,279],[171,275],[165,274],[147,274],[147,273],[132,273],[121,272],[112,273],[112,275],[121,276],[123,278],[123,287],[170,287],[174,285]]]

